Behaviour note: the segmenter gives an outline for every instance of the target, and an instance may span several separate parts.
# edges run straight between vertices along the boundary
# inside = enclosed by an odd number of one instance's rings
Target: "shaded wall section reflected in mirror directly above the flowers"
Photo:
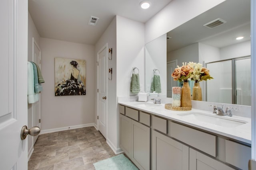
[[[171,51],[167,54],[167,62],[178,60],[178,66],[182,66],[183,62],[194,62],[198,63],[199,61],[199,51],[198,51],[198,43],[194,43],[191,45],[188,45],[186,47],[183,47],[178,50]]]

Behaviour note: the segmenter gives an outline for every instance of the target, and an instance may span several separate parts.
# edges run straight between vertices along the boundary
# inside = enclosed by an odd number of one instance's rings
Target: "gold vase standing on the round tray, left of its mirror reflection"
[[[181,107],[191,107],[191,95],[190,95],[190,87],[188,82],[184,82],[181,88]]]

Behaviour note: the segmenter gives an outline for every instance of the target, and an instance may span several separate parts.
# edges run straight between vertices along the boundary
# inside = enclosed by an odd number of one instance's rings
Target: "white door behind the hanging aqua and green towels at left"
[[[33,62],[36,63],[40,69],[41,69],[41,49],[36,43],[35,39],[33,38]],[[38,126],[41,128],[41,93],[39,93],[39,100],[38,102],[32,104],[33,107],[33,115],[34,115],[34,123],[33,126]],[[38,138],[38,135],[33,137],[33,145],[36,143],[36,139]]]

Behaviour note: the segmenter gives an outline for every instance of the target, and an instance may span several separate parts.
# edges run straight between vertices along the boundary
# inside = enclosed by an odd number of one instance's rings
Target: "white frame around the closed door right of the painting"
[[[97,52],[97,130],[99,130],[99,54],[104,50],[108,49],[108,43]],[[108,58],[108,51],[106,50],[106,57]],[[106,60],[106,68],[108,67],[108,59]],[[108,77],[106,77],[107,79]],[[106,81],[106,88],[108,89],[108,81]],[[108,97],[108,90],[106,90],[106,96]],[[108,100],[106,100],[106,139],[108,138]]]

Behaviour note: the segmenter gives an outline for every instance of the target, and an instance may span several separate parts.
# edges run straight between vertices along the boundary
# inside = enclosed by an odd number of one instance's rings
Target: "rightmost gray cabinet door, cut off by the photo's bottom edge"
[[[230,166],[206,156],[194,149],[189,149],[190,170],[234,170]]]

